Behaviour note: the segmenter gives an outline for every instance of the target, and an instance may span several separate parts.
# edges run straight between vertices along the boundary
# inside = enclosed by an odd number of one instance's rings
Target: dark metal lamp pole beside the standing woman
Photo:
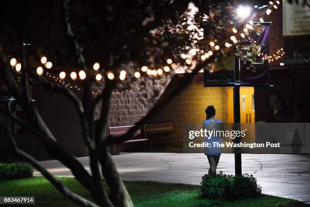
[[[234,128],[240,130],[240,59],[234,57]],[[240,136],[236,137],[234,143],[240,143]],[[240,148],[234,148],[235,153],[235,175],[242,174]]]

